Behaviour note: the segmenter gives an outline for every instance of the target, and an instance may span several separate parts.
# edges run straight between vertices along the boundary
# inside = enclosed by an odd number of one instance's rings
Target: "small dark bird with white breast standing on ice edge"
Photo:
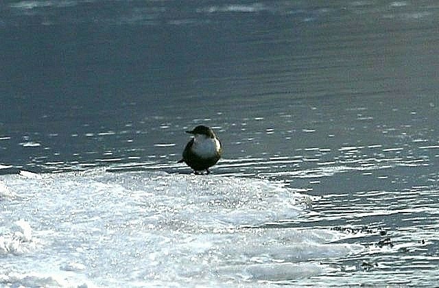
[[[193,134],[193,137],[187,143],[178,163],[186,163],[195,174],[204,170],[207,174],[211,173],[209,168],[215,165],[222,155],[222,145],[215,132],[208,126],[198,125],[186,133]]]

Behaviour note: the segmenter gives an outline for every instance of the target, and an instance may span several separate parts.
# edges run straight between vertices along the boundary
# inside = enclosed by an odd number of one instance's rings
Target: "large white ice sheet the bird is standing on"
[[[322,259],[363,250],[337,231],[276,228],[311,200],[265,180],[103,169],[0,180],[21,196],[0,211],[0,283],[13,287],[254,286],[332,273]]]

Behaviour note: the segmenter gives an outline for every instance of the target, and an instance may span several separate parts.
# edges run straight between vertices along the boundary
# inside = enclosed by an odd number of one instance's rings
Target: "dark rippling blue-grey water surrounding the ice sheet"
[[[184,131],[204,123],[213,173],[322,196],[277,225],[370,246],[310,285],[430,286],[438,19],[437,1],[3,1],[0,164],[189,173]]]

